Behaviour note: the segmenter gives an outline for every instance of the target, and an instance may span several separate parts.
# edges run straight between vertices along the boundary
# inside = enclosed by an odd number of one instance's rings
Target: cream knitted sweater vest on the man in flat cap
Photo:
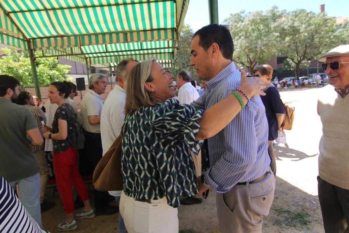
[[[322,122],[319,144],[319,176],[349,190],[349,95],[342,98],[331,85],[318,98]]]

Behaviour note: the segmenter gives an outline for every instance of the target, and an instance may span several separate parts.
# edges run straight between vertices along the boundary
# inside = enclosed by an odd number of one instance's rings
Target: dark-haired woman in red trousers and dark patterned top
[[[84,202],[85,208],[81,213],[76,214],[77,219],[93,218],[94,211],[91,209],[87,189],[82,181],[77,167],[77,150],[71,146],[71,135],[73,128],[74,110],[65,98],[69,96],[69,88],[63,82],[53,82],[49,86],[47,97],[51,103],[56,103],[57,108],[52,128],[43,125],[44,137],[52,139],[53,143],[53,169],[56,177],[58,192],[61,196],[67,219],[58,225],[60,231],[73,231],[77,228],[74,220],[74,197],[71,184]]]

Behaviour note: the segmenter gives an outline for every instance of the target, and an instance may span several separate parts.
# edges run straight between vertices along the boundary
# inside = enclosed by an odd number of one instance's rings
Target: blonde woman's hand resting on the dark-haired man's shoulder
[[[266,87],[264,82],[258,77],[246,77],[246,72],[241,70],[241,85],[239,87],[249,98],[255,95],[265,95],[262,91]]]

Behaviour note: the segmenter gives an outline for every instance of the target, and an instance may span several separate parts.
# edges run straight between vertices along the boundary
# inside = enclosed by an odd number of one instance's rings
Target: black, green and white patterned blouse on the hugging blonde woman
[[[192,150],[203,110],[168,99],[151,107],[132,110],[125,118],[122,138],[123,190],[133,198],[167,198],[179,206],[179,197],[198,193]]]

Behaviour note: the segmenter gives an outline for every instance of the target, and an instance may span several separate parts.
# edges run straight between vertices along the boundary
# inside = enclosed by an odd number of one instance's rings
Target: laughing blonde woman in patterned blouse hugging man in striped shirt
[[[128,233],[178,232],[179,197],[198,193],[190,150],[197,154],[200,140],[222,130],[247,103],[236,91],[239,98],[231,94],[205,112],[181,105],[173,99],[173,78],[150,58],[127,80],[120,213]],[[247,97],[263,95],[262,81],[243,76],[241,83]]]

